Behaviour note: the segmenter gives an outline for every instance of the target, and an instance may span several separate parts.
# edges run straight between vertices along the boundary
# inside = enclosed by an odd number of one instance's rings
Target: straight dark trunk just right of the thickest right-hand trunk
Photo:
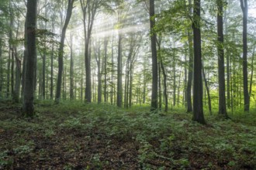
[[[226,108],[226,90],[225,90],[225,62],[224,62],[224,49],[223,49],[223,0],[217,0],[217,34],[218,34],[218,80],[219,80],[219,114],[227,117]]]

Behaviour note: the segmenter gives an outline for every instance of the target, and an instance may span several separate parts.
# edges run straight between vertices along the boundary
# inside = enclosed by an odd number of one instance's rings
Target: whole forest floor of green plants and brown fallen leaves
[[[230,120],[146,107],[0,103],[0,169],[256,169],[256,114]],[[253,112],[253,111],[252,111]]]

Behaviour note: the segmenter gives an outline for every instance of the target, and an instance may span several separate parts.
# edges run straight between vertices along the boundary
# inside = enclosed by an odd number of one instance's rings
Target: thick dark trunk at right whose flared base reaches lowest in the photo
[[[206,124],[202,109],[202,52],[200,31],[200,0],[194,0],[193,33],[194,33],[194,84],[193,84],[193,121]]]

